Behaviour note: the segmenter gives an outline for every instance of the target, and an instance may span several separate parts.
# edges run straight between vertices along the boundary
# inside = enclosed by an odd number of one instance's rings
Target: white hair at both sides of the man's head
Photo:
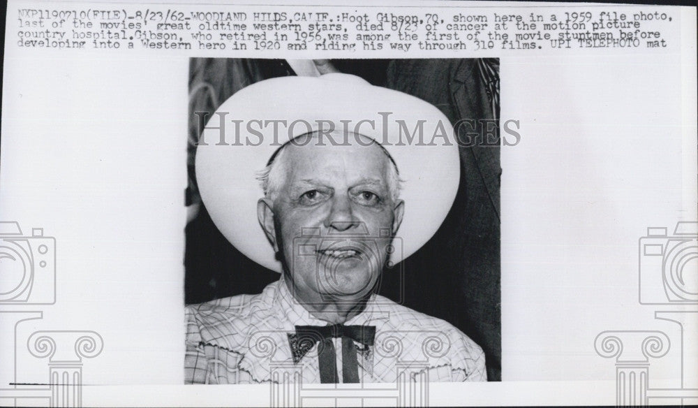
[[[376,142],[375,140],[372,140],[372,142],[380,147],[380,150],[383,150],[383,153],[385,153],[385,156],[387,156],[388,160],[390,161],[386,182],[388,185],[390,198],[392,201],[396,201],[400,196],[400,190],[403,182],[403,180],[400,178],[397,165],[392,159],[392,156],[390,156],[387,150],[385,150],[385,147],[381,146],[380,143]],[[286,173],[288,173],[288,171],[286,171],[286,166],[288,166],[288,163],[286,163],[287,160],[284,159],[286,156],[284,152],[285,147],[289,144],[290,143],[285,143],[285,145],[279,147],[279,150],[277,150],[274,156],[272,156],[272,161],[257,173],[257,180],[260,181],[260,185],[262,187],[262,191],[264,191],[265,197],[272,199],[272,201],[276,199],[276,194],[279,193],[283,182],[285,182]]]

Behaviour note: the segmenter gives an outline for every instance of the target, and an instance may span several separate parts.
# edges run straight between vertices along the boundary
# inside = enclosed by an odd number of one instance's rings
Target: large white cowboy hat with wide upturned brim
[[[257,219],[264,196],[258,172],[283,143],[327,126],[376,140],[396,163],[405,211],[396,233],[402,252],[393,254],[394,263],[429,241],[453,204],[458,145],[435,106],[342,73],[257,82],[216,110],[202,132],[195,166],[211,219],[232,245],[266,268],[281,272]]]

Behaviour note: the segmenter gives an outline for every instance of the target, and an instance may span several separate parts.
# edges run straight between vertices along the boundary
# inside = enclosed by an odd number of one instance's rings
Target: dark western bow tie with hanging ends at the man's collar
[[[336,384],[337,361],[333,337],[342,339],[342,379],[345,383],[359,382],[359,368],[354,342],[373,346],[376,337],[376,326],[344,326],[332,324],[329,326],[296,326],[296,333],[288,333],[288,342],[293,354],[293,362],[298,363],[303,356],[318,345],[318,363],[320,365],[320,382]]]

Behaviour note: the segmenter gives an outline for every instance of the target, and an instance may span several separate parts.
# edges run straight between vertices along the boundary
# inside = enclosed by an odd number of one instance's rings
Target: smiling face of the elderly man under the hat
[[[273,223],[262,226],[283,256],[296,296],[364,298],[402,219],[403,203],[393,201],[387,181],[392,163],[378,145],[366,146],[368,139],[360,145],[350,137],[350,145],[339,146],[308,137],[285,147],[283,182],[274,201],[260,201]]]

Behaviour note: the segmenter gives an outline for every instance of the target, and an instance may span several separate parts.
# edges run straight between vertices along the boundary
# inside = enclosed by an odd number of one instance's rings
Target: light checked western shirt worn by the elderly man
[[[289,343],[295,326],[326,326],[297,303],[283,277],[258,295],[239,295],[186,307],[186,384],[260,384],[283,375],[320,383],[318,347],[297,363]],[[372,346],[357,348],[359,381],[487,381],[482,349],[460,330],[373,294],[347,326],[376,326]],[[342,342],[336,338],[342,378]],[[407,375],[408,377],[399,377]],[[411,377],[410,377],[411,376]]]

